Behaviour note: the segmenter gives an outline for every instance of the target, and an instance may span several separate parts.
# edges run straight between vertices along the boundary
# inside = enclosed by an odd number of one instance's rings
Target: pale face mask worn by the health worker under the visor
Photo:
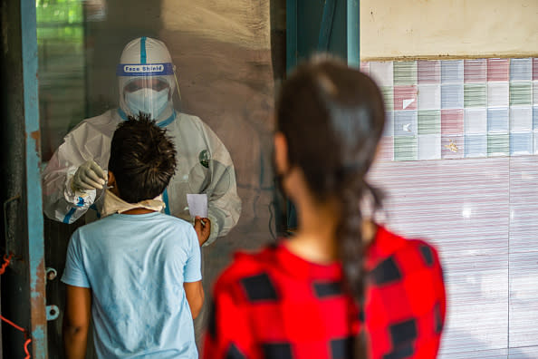
[[[139,89],[135,92],[125,92],[125,102],[133,115],[139,112],[148,113],[151,120],[158,120],[160,114],[168,105],[168,90]]]

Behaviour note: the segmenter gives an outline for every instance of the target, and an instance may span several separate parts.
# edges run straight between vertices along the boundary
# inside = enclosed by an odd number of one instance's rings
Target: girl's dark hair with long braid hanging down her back
[[[303,170],[317,199],[341,204],[335,237],[344,287],[360,305],[366,249],[360,203],[370,197],[374,210],[381,206],[379,190],[365,179],[385,121],[379,88],[367,75],[334,60],[303,64],[283,83],[276,115],[291,166]],[[360,337],[356,359],[366,358]]]

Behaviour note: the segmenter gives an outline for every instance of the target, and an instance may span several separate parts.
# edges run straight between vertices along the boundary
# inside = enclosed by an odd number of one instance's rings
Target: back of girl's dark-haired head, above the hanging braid
[[[366,74],[335,60],[298,67],[276,105],[277,131],[288,163],[303,171],[312,195],[324,200],[364,179],[383,131],[378,86]]]

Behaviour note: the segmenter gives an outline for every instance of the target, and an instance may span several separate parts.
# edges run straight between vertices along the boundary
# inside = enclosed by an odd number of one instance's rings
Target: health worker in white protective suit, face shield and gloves
[[[234,164],[206,123],[174,109],[172,95],[178,82],[166,45],[149,37],[131,41],[121,53],[116,73],[120,107],[77,125],[43,171],[46,216],[72,223],[84,213],[87,222],[103,215],[112,134],[128,114],[145,112],[168,130],[178,151],[178,170],[162,195],[165,212],[192,220],[187,194],[205,193],[211,224],[205,245],[226,235],[241,213]]]

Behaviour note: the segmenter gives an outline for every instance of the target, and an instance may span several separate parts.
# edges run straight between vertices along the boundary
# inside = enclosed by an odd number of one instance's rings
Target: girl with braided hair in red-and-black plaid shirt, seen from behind
[[[435,358],[446,293],[437,251],[360,209],[383,131],[378,86],[335,61],[300,66],[276,106],[275,171],[293,238],[238,254],[217,280],[207,359]]]

